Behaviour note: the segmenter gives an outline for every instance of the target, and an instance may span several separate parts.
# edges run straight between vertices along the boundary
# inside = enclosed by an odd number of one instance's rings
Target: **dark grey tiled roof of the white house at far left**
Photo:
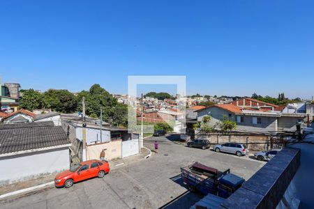
[[[0,154],[69,144],[61,126],[0,130]]]

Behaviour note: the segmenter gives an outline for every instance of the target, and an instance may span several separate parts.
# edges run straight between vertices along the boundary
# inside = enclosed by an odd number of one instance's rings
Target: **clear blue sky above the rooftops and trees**
[[[99,83],[126,93],[128,75],[186,75],[188,94],[309,98],[313,10],[314,1],[0,1],[0,74],[42,91]]]

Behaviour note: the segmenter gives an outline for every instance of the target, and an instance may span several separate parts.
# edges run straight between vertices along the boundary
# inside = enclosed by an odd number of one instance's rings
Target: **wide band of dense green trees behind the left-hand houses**
[[[94,84],[89,91],[81,91],[75,96],[68,90],[49,89],[39,93],[33,89],[23,90],[20,107],[33,109],[49,108],[61,113],[82,111],[82,98],[85,98],[86,114],[93,118],[100,116],[100,107],[103,107],[103,120],[112,125],[126,126],[128,121],[128,106],[120,104],[105,88]]]

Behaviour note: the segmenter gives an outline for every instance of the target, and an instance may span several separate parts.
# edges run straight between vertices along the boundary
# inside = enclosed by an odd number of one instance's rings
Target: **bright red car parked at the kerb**
[[[70,170],[59,173],[54,178],[54,185],[56,187],[72,187],[73,183],[77,183],[81,180],[93,178],[103,178],[106,173],[110,171],[107,161],[100,160],[88,160],[75,164]]]

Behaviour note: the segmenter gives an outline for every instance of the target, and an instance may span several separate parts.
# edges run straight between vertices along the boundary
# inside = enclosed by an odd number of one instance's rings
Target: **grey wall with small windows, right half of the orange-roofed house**
[[[277,130],[276,117],[262,117],[262,123],[253,124],[253,116],[244,116],[244,123],[237,122],[237,130],[244,132],[268,132]]]

